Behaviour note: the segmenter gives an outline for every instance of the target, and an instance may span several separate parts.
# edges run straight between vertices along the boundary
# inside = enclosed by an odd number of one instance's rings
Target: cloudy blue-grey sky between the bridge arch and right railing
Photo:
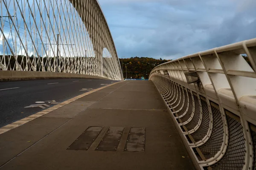
[[[256,0],[99,0],[118,56],[175,59],[256,37]]]

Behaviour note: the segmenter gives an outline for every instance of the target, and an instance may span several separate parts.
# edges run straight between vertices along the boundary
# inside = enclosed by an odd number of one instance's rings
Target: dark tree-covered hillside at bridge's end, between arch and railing
[[[148,57],[131,57],[131,58],[123,58],[119,59],[120,65],[123,68],[124,78],[126,78],[126,69],[125,64],[127,66],[127,78],[132,79],[140,79],[144,77],[148,79],[150,71],[157,65],[160,65],[164,62],[168,62],[170,60],[166,59],[153,59]],[[122,64],[123,63],[123,64]]]

